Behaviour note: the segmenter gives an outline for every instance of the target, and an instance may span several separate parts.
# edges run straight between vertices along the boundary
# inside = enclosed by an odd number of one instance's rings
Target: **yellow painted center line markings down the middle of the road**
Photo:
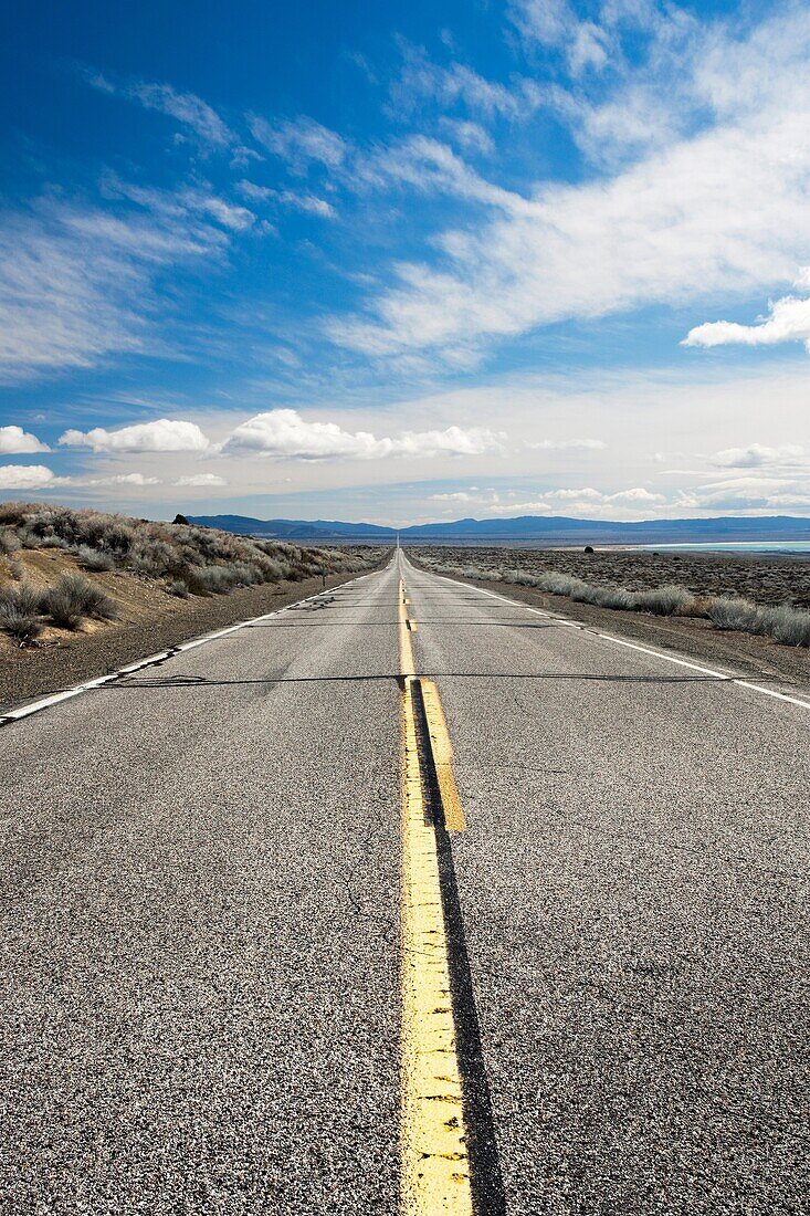
[[[452,779],[452,750],[429,681],[417,681],[407,629],[404,584],[399,595],[403,692],[403,1030],[401,1030],[401,1211],[404,1216],[472,1216],[472,1187],[456,1051],[450,956],[441,901],[439,848],[426,815],[423,761],[417,733],[417,683],[428,716],[439,792],[441,771]],[[433,705],[428,710],[428,703]],[[439,721],[440,720],[440,721]],[[444,732],[444,733],[443,733]],[[434,737],[435,734],[435,737]],[[445,778],[446,781],[446,778]],[[452,783],[455,792],[455,782]],[[455,794],[457,811],[461,812]],[[445,807],[446,815],[446,807]],[[461,812],[463,824],[463,812]],[[446,822],[446,818],[445,818]],[[446,823],[450,827],[449,823]]]

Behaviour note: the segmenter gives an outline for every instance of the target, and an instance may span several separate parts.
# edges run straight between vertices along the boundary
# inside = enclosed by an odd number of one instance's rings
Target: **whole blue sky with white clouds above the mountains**
[[[0,495],[810,514],[810,10],[33,2]]]

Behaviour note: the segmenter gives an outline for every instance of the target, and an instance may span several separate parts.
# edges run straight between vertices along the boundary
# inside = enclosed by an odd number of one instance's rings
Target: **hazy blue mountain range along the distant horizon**
[[[190,516],[190,523],[243,536],[297,541],[378,541],[394,544],[395,528],[351,524],[339,519],[251,519],[248,516]],[[720,516],[715,519],[645,519],[620,523],[572,519],[567,516],[518,516],[514,519],[456,519],[399,529],[403,542],[535,545],[654,545],[690,541],[810,540],[810,519],[794,516]]]

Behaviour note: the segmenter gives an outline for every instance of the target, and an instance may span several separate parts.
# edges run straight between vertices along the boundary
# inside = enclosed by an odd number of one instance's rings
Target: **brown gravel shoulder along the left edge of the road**
[[[338,587],[354,578],[358,578],[356,573],[327,575],[326,586]],[[91,632],[85,627],[36,648],[4,646],[0,655],[0,709],[10,709],[83,680],[116,671],[201,634],[285,608],[315,595],[322,585],[322,579],[317,576],[299,582],[240,587],[230,595],[190,599],[176,599],[159,591],[154,598],[159,599],[162,610],[156,607],[148,619],[94,626]]]

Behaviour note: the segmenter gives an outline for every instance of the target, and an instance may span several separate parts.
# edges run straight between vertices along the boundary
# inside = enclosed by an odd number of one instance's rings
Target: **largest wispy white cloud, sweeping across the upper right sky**
[[[440,145],[406,141],[401,180],[417,185],[421,171],[422,188],[477,198],[500,214],[439,237],[438,264],[393,266],[393,283],[366,314],[327,332],[370,356],[441,355],[555,321],[788,281],[810,241],[808,58],[806,10],[774,17],[747,40],[711,30],[682,64],[694,114],[710,120],[693,118],[696,133],[612,178],[544,184],[528,199],[484,182]],[[658,80],[658,108],[668,79]],[[641,117],[654,112],[649,105]]]

